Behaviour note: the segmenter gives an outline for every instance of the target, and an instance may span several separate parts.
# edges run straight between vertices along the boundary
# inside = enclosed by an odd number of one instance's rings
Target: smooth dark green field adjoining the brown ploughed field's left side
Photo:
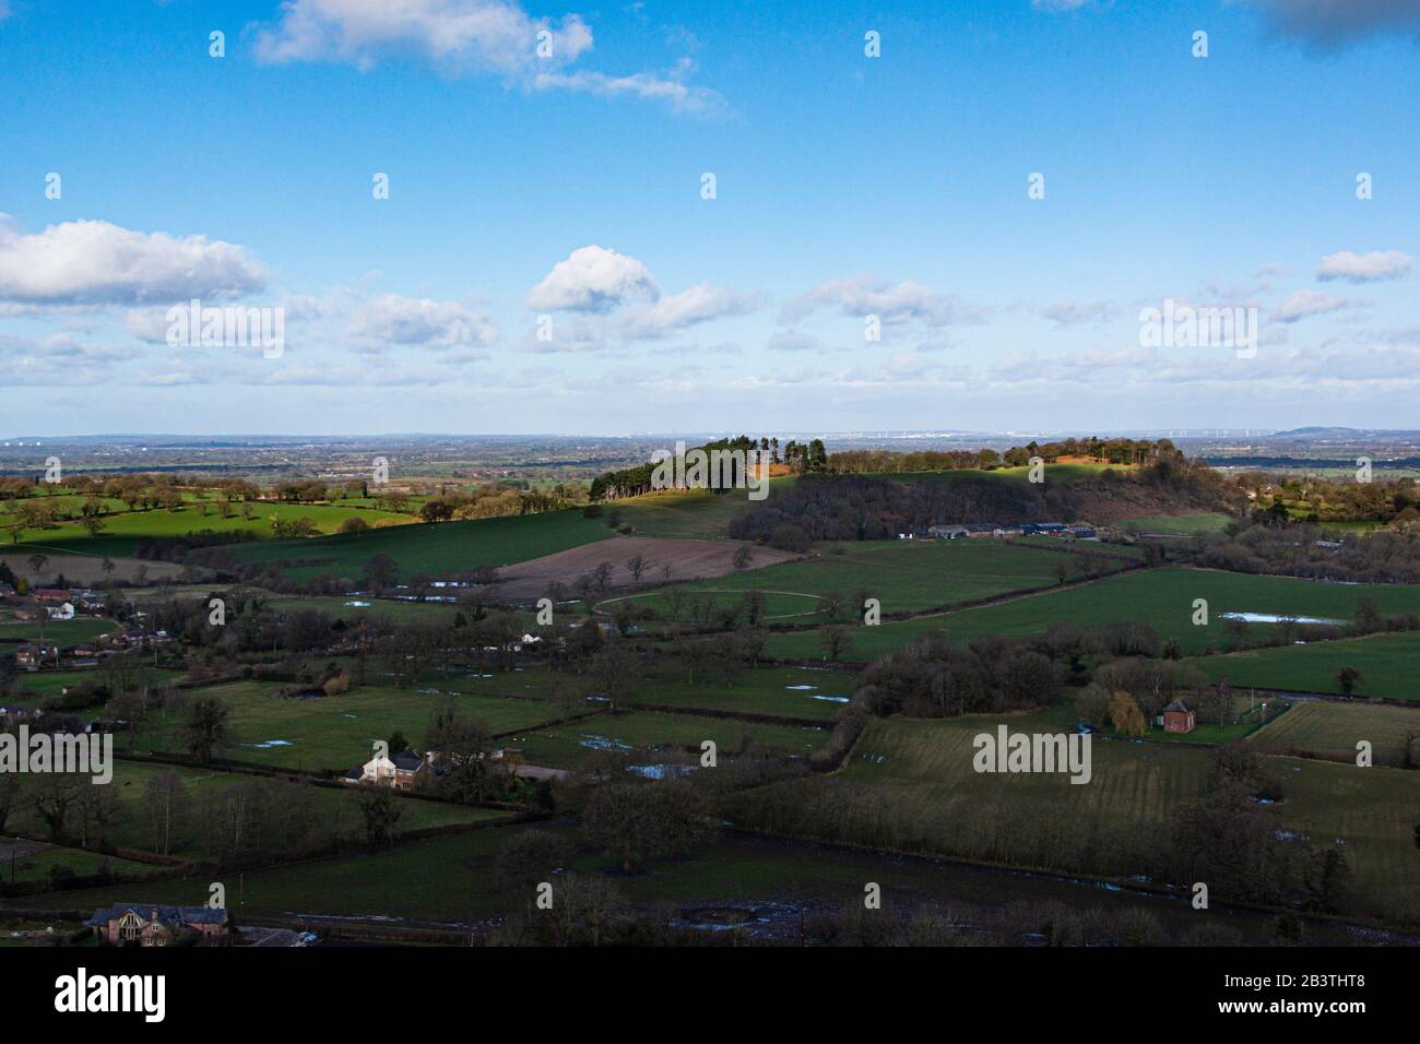
[[[231,555],[240,562],[288,561],[291,565],[283,567],[283,572],[310,580],[322,572],[358,578],[365,562],[385,554],[399,564],[402,578],[426,572],[447,580],[479,565],[510,565],[611,535],[612,530],[599,518],[585,518],[581,511],[550,511],[241,544],[231,548]]]

